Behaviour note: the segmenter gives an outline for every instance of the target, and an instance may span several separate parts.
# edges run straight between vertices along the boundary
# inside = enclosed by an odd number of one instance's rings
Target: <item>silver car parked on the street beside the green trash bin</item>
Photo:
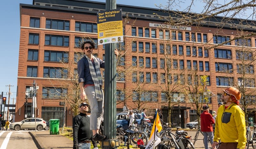
[[[27,118],[20,122],[10,123],[11,130],[35,129],[35,118]],[[42,118],[36,118],[36,130],[43,130],[46,122]]]

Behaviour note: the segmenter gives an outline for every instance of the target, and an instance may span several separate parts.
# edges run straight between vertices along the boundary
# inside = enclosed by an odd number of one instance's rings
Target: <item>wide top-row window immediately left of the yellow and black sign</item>
[[[75,31],[98,33],[96,23],[78,22],[75,23]]]

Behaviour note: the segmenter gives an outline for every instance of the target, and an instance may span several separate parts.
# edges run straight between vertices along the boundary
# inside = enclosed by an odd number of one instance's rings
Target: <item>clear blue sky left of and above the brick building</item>
[[[95,0],[106,2],[105,0]],[[141,7],[156,8],[155,4],[166,4],[167,0],[117,0],[117,4],[136,5]],[[8,85],[11,85],[11,103],[12,98],[16,99],[17,77],[18,77],[18,60],[19,60],[19,35],[20,35],[20,14],[19,4],[32,4],[33,0],[14,0],[2,1],[0,9],[0,93],[9,91]],[[195,1],[195,10],[200,8],[200,0]],[[182,4],[185,6],[185,4]],[[179,9],[179,8],[175,8]],[[181,8],[180,10],[183,10]],[[26,71],[26,70],[24,70]],[[8,96],[7,96],[8,97]]]

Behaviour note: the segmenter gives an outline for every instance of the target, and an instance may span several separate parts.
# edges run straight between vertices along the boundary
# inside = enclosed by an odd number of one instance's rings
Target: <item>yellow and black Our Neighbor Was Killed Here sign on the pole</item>
[[[97,13],[98,45],[124,42],[122,9]]]

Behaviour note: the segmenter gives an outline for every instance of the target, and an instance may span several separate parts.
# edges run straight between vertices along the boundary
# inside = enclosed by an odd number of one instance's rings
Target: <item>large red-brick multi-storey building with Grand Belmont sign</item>
[[[136,88],[136,82],[143,82],[145,90],[143,100],[151,99],[147,102],[147,108],[162,108],[164,120],[167,121],[168,109],[165,95],[161,87],[164,86],[162,78],[164,74],[164,48],[169,47],[169,54],[172,55],[172,81],[182,80],[178,75],[180,70],[195,67],[198,75],[207,75],[209,89],[216,96],[212,96],[208,104],[211,110],[217,111],[218,98],[222,90],[227,86],[232,86],[230,79],[239,79],[237,71],[223,73],[223,68],[236,68],[239,59],[237,56],[237,42],[225,43],[217,48],[207,49],[206,45],[217,45],[237,36],[236,29],[229,26],[222,26],[219,30],[216,26],[221,17],[216,17],[201,26],[163,26],[165,22],[159,19],[154,13],[166,16],[166,13],[158,9],[135,7],[117,4],[117,8],[122,8],[123,18],[130,18],[124,24],[125,55],[121,57],[118,69],[122,70],[136,68],[131,74],[118,74],[117,79],[117,111],[122,111],[126,105],[136,108],[138,96],[129,96]],[[25,92],[30,92],[33,80],[39,86],[37,97],[36,117],[45,120],[60,119],[60,124],[64,121],[63,100],[57,99],[58,93],[69,92],[67,88],[61,88],[58,80],[65,78],[67,70],[62,68],[66,64],[77,61],[76,52],[80,52],[79,41],[82,37],[91,38],[97,43],[97,12],[105,10],[105,3],[83,1],[83,0],[34,0],[33,5],[20,4],[20,46],[19,46],[19,67],[18,67],[18,91],[15,111],[15,121],[25,118],[26,99]],[[253,28],[244,28],[248,32],[255,32]],[[246,39],[246,47],[254,51],[255,37]],[[169,44],[163,45],[165,41]],[[121,49],[120,49],[121,50]],[[120,52],[122,53],[122,50]],[[104,59],[104,45],[98,45],[94,50],[94,55]],[[61,63],[63,60],[65,63]],[[76,65],[71,64],[71,71],[76,71]],[[139,73],[141,68],[141,72]],[[177,72],[176,72],[176,71]],[[226,69],[225,69],[226,70]],[[254,67],[251,71],[254,74]],[[60,73],[64,72],[64,73]],[[104,73],[104,72],[103,72]],[[54,75],[53,75],[54,74]],[[142,75],[143,74],[143,75]],[[58,78],[58,79],[56,79]],[[191,78],[192,79],[192,78]],[[49,81],[50,80],[50,81]],[[251,80],[255,87],[254,79]],[[158,86],[159,84],[159,86]],[[55,85],[56,88],[53,87]],[[158,86],[158,87],[156,87]],[[122,89],[127,90],[123,92]],[[55,93],[54,95],[50,93]],[[27,115],[31,117],[32,95],[28,95]],[[175,105],[172,110],[172,122],[178,122],[179,111],[181,113],[181,125],[196,119],[195,110],[191,108],[191,103],[179,90],[173,94],[173,101],[177,97],[182,102]],[[123,100],[126,99],[127,100]],[[72,111],[67,104],[66,126],[72,126]],[[179,110],[180,109],[180,110]],[[248,115],[253,117],[254,115]]]

